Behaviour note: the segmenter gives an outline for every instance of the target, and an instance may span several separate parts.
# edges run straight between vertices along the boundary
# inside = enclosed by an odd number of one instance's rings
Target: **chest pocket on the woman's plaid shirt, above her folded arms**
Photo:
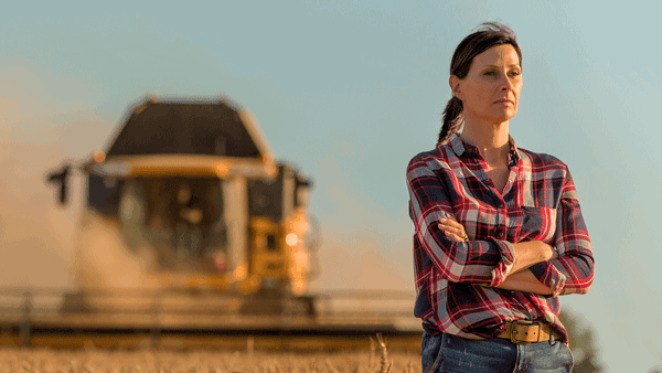
[[[517,242],[542,241],[554,243],[556,234],[556,209],[521,206]]]

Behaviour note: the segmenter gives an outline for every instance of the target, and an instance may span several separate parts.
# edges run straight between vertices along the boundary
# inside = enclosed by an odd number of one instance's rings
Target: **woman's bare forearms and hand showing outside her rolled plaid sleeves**
[[[467,237],[462,224],[448,214],[446,214],[446,219],[439,221],[438,226],[448,238],[456,242],[465,241],[465,237]],[[545,296],[552,295],[552,289],[543,285],[528,268],[556,257],[556,251],[551,245],[541,241],[521,242],[512,245],[515,252],[513,268],[505,277],[505,280],[496,287]]]

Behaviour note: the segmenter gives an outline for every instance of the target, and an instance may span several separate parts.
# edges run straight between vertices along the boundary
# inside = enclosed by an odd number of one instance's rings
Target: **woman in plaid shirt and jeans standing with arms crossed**
[[[570,372],[558,296],[588,291],[590,239],[567,166],[509,135],[522,90],[512,30],[467,36],[449,85],[437,148],[407,167],[423,367]]]

